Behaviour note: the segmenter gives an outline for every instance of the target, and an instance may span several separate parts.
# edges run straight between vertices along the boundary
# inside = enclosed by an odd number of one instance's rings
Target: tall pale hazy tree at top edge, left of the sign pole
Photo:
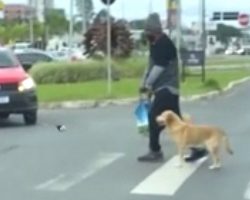
[[[88,29],[90,21],[94,16],[94,5],[92,0],[76,0],[78,13],[84,18],[85,27]],[[83,21],[82,21],[83,23]]]

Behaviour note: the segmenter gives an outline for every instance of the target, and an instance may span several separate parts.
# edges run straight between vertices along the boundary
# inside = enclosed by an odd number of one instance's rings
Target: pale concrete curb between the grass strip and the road
[[[247,81],[250,81],[250,76],[245,77],[240,80],[232,81],[227,87],[221,91],[211,91],[201,95],[192,95],[190,97],[181,97],[181,102],[191,102],[197,100],[207,100],[215,96],[224,94],[234,87],[241,85]],[[89,101],[65,101],[59,103],[40,103],[40,109],[89,109],[89,108],[99,108],[106,106],[121,106],[121,105],[131,105],[138,101],[138,98],[126,98],[126,99],[111,99],[111,100],[89,100]]]

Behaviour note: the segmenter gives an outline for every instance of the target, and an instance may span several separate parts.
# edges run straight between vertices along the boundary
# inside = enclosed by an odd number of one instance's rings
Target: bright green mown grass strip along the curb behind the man
[[[187,77],[181,85],[183,96],[205,93],[214,89],[225,87],[230,81],[250,76],[250,71],[227,70],[208,71],[206,82],[201,82],[201,77]],[[91,81],[75,84],[47,84],[38,86],[40,102],[58,102],[68,100],[93,100],[107,98],[126,98],[138,95],[140,79],[122,79],[112,84],[112,94],[107,95],[105,80]]]

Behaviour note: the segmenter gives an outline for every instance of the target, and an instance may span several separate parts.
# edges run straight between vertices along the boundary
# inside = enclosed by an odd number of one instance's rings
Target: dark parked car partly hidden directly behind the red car
[[[55,60],[51,54],[40,49],[29,48],[18,51],[15,54],[26,71],[38,62],[51,62]]]

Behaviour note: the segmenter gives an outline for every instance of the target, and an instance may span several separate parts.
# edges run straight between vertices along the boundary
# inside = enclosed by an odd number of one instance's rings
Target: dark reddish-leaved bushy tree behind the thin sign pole
[[[94,55],[101,51],[107,53],[107,13],[102,10],[94,19],[91,28],[85,34],[86,53]],[[110,16],[111,17],[111,16]],[[116,57],[128,57],[133,50],[133,41],[128,23],[111,17],[111,53]]]

